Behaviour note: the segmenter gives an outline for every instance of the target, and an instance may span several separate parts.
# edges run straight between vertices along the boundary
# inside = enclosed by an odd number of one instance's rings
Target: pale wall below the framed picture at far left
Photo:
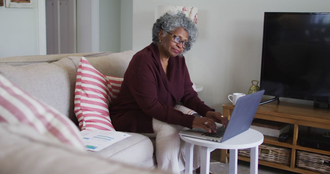
[[[0,58],[37,55],[38,1],[34,8],[0,7]]]

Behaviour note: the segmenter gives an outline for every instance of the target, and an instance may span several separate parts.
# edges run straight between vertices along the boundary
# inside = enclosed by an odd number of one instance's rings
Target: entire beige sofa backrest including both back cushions
[[[133,55],[134,52],[130,50],[120,53],[9,57],[0,59],[0,73],[33,97],[54,107],[78,124],[74,114],[74,98],[81,57],[84,56],[104,75],[123,77]]]

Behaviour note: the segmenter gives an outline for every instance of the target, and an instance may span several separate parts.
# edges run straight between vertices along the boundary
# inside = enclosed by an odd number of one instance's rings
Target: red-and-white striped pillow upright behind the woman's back
[[[123,78],[105,76],[81,58],[75,89],[75,114],[81,130],[115,130],[109,103],[119,93]]]

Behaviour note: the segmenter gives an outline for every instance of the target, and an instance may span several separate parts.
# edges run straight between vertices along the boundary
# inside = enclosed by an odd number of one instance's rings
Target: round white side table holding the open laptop
[[[250,173],[258,173],[258,146],[264,141],[264,136],[260,132],[248,129],[227,141],[222,143],[202,140],[180,135],[181,139],[186,142],[186,163],[185,173],[192,174],[192,157],[194,145],[201,147],[201,173],[207,174],[210,170],[210,153],[215,149],[230,149],[229,156],[229,173],[237,174],[237,151],[238,149],[251,148],[250,156]]]

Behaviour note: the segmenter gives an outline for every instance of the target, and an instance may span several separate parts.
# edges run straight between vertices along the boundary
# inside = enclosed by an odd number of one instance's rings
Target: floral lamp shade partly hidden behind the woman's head
[[[182,11],[189,19],[193,20],[197,24],[197,10],[196,7],[187,6],[156,6],[155,20],[157,20],[164,13]]]

